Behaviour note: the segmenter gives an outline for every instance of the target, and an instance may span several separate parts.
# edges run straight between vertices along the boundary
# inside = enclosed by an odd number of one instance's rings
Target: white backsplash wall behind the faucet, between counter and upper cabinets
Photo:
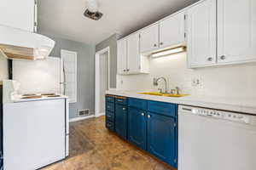
[[[231,98],[256,97],[256,64],[224,65],[196,70],[187,69],[186,53],[167,57],[150,58],[149,75],[117,76],[119,90],[152,90],[153,78],[164,76],[169,89],[178,86],[185,94]],[[192,86],[193,78],[200,78],[202,85]],[[123,82],[123,83],[122,83]],[[163,82],[160,82],[160,87]]]

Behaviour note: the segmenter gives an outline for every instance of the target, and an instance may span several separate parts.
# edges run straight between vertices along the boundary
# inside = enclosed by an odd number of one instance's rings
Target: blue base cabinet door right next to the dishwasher
[[[148,152],[177,168],[175,118],[148,113]]]

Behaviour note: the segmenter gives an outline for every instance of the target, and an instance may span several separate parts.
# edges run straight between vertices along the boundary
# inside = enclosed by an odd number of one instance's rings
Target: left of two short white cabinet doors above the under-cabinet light
[[[159,24],[149,26],[141,31],[141,52],[159,48]]]

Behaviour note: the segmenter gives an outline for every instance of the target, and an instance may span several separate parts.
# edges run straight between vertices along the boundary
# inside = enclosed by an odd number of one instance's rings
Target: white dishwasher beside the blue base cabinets
[[[256,116],[179,105],[179,170],[255,170]]]

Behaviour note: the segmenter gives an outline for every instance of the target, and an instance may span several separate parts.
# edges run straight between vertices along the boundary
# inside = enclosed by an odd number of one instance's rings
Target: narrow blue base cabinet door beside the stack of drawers
[[[125,105],[115,105],[115,132],[127,139],[127,107]]]

